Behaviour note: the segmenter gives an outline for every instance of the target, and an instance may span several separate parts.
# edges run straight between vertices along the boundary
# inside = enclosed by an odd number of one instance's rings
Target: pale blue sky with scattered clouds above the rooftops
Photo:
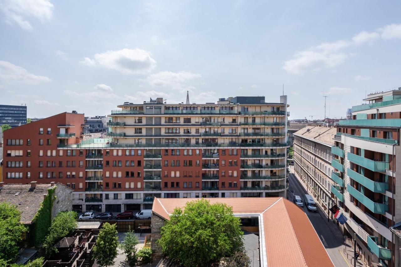
[[[291,118],[341,117],[401,87],[400,1],[0,0],[0,103],[28,117],[124,101],[288,95]],[[310,118],[310,117],[308,117]]]

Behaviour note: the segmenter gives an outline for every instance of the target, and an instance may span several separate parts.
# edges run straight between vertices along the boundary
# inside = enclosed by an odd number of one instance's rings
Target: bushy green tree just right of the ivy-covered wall
[[[45,242],[43,242],[43,249],[45,249],[48,257],[58,252],[54,245],[77,228],[77,219],[77,212],[65,211],[59,212],[52,220],[49,234],[46,236]]]

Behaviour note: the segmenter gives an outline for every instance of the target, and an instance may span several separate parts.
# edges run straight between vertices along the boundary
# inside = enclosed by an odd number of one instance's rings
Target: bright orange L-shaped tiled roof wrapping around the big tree
[[[174,208],[199,198],[155,198],[152,212],[169,219]],[[261,266],[334,266],[305,212],[281,197],[207,198],[232,206],[237,216],[260,216]]]

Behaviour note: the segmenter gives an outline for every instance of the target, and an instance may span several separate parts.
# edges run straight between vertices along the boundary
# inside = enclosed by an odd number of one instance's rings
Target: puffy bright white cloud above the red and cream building
[[[95,54],[93,59],[85,57],[80,62],[88,66],[113,69],[126,75],[146,74],[156,67],[156,61],[150,53],[142,49],[127,48]]]

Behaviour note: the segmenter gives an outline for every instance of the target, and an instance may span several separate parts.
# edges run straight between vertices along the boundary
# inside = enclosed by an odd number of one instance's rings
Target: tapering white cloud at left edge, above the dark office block
[[[41,83],[51,81],[48,77],[34,75],[26,69],[7,61],[0,61],[0,81],[6,83]]]

